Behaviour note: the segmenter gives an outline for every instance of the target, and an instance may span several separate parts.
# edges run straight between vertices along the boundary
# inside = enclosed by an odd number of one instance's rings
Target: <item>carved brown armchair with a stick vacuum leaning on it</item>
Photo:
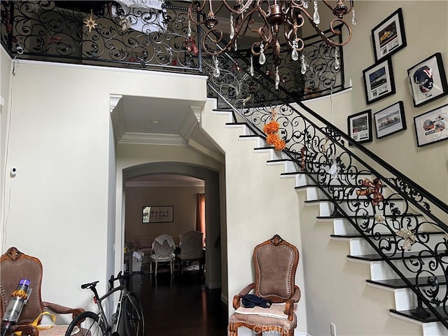
[[[42,284],[42,264],[37,258],[20,252],[17,248],[11,247],[0,259],[0,291],[1,291],[1,316],[5,314],[6,307],[11,297],[11,293],[17,288],[20,279],[26,278],[31,281],[32,290],[28,298],[27,304],[22,309],[19,321],[10,328],[10,334],[22,331],[22,336],[43,336],[51,335],[64,336],[68,325],[55,325],[49,330],[38,330],[36,327],[29,325],[44,310],[56,314],[71,314],[71,318],[75,318],[84,309],[71,309],[60,306],[59,304],[42,302],[41,284]]]

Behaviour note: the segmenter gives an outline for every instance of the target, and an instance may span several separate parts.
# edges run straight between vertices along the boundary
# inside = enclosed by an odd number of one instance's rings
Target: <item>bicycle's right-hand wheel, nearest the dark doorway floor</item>
[[[123,320],[127,336],[145,336],[145,319],[136,293],[130,292],[123,305]]]

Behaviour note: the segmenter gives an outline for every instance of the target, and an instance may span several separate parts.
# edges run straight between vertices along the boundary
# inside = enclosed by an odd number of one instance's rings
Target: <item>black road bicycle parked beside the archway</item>
[[[126,336],[144,336],[145,321],[140,299],[136,293],[129,291],[126,285],[127,279],[137,274],[143,276],[144,272],[121,274],[120,271],[116,278],[112,275],[111,279],[109,279],[109,291],[102,297],[99,297],[96,288],[99,281],[81,285],[81,288],[83,289],[92,290],[94,294],[93,301],[97,304],[99,312],[94,313],[93,311],[84,311],[76,316],[66,330],[65,336],[120,336],[118,331],[121,332],[123,329],[121,321],[124,322],[124,332]],[[114,288],[113,283],[116,280],[120,281],[120,286]],[[102,301],[118,291],[120,291],[120,297],[118,299],[117,309],[115,313],[112,314],[111,323],[109,323],[106,314],[104,314]]]

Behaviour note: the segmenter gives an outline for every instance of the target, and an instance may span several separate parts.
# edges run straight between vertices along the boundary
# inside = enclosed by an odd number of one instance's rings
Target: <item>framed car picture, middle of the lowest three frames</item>
[[[377,139],[406,130],[405,109],[401,101],[374,113],[373,119]]]

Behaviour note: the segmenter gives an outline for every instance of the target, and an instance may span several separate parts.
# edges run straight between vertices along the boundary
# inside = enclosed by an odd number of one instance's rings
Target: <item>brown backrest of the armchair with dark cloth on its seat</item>
[[[253,250],[255,295],[272,302],[285,302],[295,293],[297,248],[275,235]]]

